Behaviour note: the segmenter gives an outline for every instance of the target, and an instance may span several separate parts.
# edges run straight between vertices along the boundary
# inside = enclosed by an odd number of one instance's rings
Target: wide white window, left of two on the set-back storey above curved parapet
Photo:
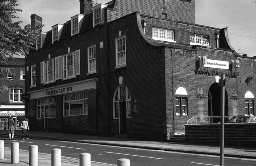
[[[175,42],[174,41],[174,31],[154,27],[154,28],[152,28],[152,39],[160,40],[160,41]]]

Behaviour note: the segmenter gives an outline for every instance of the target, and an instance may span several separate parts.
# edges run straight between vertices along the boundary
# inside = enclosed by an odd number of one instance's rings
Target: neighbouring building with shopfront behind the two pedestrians
[[[25,116],[24,100],[22,94],[24,93],[25,85],[25,58],[23,56],[8,57],[8,73],[6,75],[10,81],[5,81],[4,85],[9,87],[10,91],[6,90],[0,94],[0,121],[1,130],[7,129],[7,120],[13,116],[15,122],[15,129],[19,129],[22,118]]]

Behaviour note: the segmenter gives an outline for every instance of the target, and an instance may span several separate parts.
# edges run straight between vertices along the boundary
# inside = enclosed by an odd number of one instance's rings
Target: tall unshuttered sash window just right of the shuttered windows
[[[96,45],[88,47],[88,74],[96,72]]]

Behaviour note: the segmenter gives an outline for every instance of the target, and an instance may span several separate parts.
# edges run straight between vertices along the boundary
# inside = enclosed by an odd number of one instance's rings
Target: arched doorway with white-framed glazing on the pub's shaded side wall
[[[115,90],[113,108],[113,118],[119,119],[119,133],[126,133],[126,119],[132,118],[131,94],[126,85]]]

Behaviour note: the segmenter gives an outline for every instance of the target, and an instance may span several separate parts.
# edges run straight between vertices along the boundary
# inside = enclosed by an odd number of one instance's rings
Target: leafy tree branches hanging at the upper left
[[[0,92],[9,90],[4,85],[5,81],[11,81],[6,77],[8,68],[5,66],[12,59],[13,55],[26,56],[30,51],[35,50],[35,44],[38,34],[34,33],[43,25],[31,27],[27,24],[24,28],[20,27],[22,21],[13,22],[19,6],[17,0],[0,0]],[[12,74],[12,73],[10,73]]]

